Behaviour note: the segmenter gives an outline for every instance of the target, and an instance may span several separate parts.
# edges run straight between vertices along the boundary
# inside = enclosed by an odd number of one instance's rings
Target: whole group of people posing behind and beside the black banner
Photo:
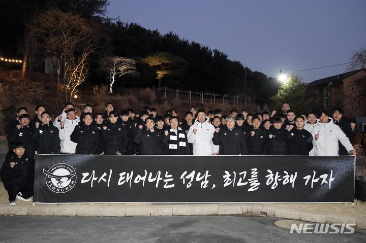
[[[31,200],[35,153],[108,155],[355,155],[349,138],[355,123],[343,118],[340,108],[332,114],[295,114],[288,103],[281,113],[250,114],[219,109],[205,112],[194,106],[178,118],[171,109],[159,116],[155,108],[114,110],[108,102],[103,113],[86,104],[80,117],[73,103],[51,122],[43,105],[31,120],[21,107],[5,131],[9,153],[0,177],[8,190],[9,203]]]

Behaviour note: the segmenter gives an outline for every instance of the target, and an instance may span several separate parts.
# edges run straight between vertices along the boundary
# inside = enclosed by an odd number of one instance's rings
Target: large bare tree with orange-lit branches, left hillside
[[[98,26],[80,15],[50,10],[41,13],[28,26],[29,43],[35,55],[57,58],[57,88],[62,84],[65,101],[86,81],[87,61],[99,47]]]

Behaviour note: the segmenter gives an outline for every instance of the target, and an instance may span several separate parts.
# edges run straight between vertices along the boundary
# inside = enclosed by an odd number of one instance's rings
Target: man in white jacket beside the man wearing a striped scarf
[[[188,143],[193,144],[193,155],[218,155],[219,146],[212,143],[215,127],[209,123],[209,118],[203,110],[197,111],[197,119],[190,127]]]

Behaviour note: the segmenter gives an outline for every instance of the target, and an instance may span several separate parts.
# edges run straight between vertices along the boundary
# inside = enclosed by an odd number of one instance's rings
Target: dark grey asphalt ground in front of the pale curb
[[[0,242],[365,242],[353,234],[290,234],[271,217],[0,217]]]

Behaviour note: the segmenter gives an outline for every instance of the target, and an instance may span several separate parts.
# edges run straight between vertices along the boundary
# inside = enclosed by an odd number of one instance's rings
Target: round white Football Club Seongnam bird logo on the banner
[[[48,188],[55,193],[65,193],[70,191],[76,182],[75,169],[65,163],[52,165],[48,170],[43,169],[46,175]]]

